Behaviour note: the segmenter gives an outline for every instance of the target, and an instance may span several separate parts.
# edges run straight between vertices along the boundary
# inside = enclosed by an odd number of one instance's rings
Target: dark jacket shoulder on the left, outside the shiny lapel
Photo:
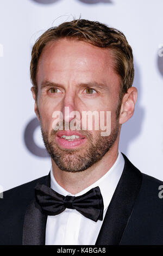
[[[3,193],[0,199],[0,245],[21,245],[24,215],[35,197],[37,182],[44,183],[43,176]]]

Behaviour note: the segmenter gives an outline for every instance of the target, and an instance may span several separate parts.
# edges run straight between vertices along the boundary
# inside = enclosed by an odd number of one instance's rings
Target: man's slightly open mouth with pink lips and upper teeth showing
[[[71,149],[86,143],[86,138],[76,131],[58,131],[56,133],[56,142],[61,148]]]

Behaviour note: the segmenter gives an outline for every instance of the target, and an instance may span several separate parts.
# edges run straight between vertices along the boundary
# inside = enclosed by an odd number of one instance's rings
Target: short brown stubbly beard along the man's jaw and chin
[[[102,157],[110,150],[115,143],[120,125],[116,119],[116,125],[112,129],[109,136],[98,135],[92,136],[89,131],[81,131],[81,135],[85,136],[87,141],[85,147],[78,149],[63,149],[55,143],[57,131],[52,130],[50,134],[42,129],[41,132],[45,147],[52,157],[55,164],[60,170],[65,172],[82,172],[91,167],[94,163],[102,159]]]

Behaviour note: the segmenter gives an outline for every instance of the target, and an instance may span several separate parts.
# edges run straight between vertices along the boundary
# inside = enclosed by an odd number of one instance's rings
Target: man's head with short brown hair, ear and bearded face
[[[133,115],[137,95],[131,87],[132,50],[121,32],[87,20],[50,28],[33,47],[30,73],[43,141],[60,169],[85,170],[118,148],[121,124]],[[110,135],[103,137],[100,130],[55,131],[54,111],[63,114],[64,123],[72,120],[65,107],[81,117],[84,111],[110,111]]]

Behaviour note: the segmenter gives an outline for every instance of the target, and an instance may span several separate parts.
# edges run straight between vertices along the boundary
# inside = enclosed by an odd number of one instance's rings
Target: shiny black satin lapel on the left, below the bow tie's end
[[[50,186],[50,175],[43,184]],[[43,214],[35,199],[30,203],[24,217],[23,245],[45,245],[47,215]]]

